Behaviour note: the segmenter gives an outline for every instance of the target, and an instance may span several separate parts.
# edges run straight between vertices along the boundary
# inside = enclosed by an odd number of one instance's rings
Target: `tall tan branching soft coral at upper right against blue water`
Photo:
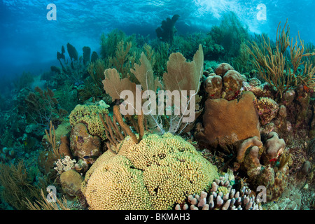
[[[290,41],[289,37],[290,29],[286,24],[282,31],[279,30],[280,23],[278,25],[275,50],[272,48],[269,38],[266,42],[263,36],[263,42],[260,46],[253,42],[251,43],[251,48],[247,47],[248,52],[254,57],[253,63],[258,69],[260,76],[276,89],[281,98],[286,91],[299,85],[306,85],[309,88],[315,87],[315,67],[302,62],[302,57],[315,55],[315,52],[304,54],[304,43],[301,41],[300,35],[299,42],[296,40],[293,44],[293,38]],[[288,47],[290,64],[286,62],[285,56]],[[304,66],[304,71],[300,72],[298,68],[302,65]],[[291,66],[293,71],[291,71]]]

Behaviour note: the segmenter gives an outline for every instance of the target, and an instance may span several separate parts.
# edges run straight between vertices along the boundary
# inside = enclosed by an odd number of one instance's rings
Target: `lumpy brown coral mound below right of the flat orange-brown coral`
[[[290,155],[285,153],[285,146],[276,132],[267,135],[263,146],[257,137],[246,139],[239,146],[237,161],[241,169],[246,171],[254,188],[267,188],[268,202],[279,198],[287,185]]]

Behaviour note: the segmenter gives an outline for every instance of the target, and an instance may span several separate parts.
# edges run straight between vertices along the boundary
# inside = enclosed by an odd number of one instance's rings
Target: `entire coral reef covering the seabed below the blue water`
[[[314,45],[178,18],[1,84],[0,209],[314,209]]]

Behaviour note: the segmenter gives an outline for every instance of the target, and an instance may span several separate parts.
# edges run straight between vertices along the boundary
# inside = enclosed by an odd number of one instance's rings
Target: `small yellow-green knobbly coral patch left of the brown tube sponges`
[[[109,113],[109,110],[97,105],[77,105],[69,115],[69,122],[72,127],[78,123],[86,125],[88,132],[100,137],[102,140],[107,139],[105,134],[105,127],[99,119],[99,114],[104,116]]]

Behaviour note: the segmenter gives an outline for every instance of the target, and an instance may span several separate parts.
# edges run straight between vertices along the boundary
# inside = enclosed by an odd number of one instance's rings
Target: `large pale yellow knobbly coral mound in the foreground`
[[[139,144],[126,137],[106,151],[81,190],[90,209],[172,209],[188,195],[209,190],[217,176],[216,167],[181,137],[148,134]]]

